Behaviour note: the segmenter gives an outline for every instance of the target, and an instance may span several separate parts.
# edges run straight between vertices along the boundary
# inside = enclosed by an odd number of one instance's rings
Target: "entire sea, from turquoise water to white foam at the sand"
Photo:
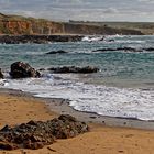
[[[6,79],[0,88],[29,91],[37,97],[68,99],[80,111],[102,116],[154,120],[154,36],[85,37],[75,43],[0,44],[0,68]],[[113,41],[114,40],[114,41]],[[142,52],[100,48],[133,47]],[[47,55],[64,50],[66,54]],[[52,74],[41,72],[41,78],[11,79],[10,65],[23,61],[31,66],[96,66],[95,74]]]

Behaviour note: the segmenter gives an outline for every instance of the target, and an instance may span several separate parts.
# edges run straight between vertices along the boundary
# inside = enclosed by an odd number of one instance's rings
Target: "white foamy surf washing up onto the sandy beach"
[[[154,120],[154,89],[97,86],[51,74],[42,78],[0,80],[0,87],[19,89],[37,97],[68,99],[69,106],[79,111]]]

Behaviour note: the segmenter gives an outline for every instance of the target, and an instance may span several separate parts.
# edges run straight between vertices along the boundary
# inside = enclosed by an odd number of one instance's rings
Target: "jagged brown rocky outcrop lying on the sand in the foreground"
[[[89,128],[85,122],[79,122],[68,114],[46,122],[30,121],[14,128],[6,125],[0,130],[0,148],[42,148],[54,143],[56,139],[74,138],[87,131]]]

